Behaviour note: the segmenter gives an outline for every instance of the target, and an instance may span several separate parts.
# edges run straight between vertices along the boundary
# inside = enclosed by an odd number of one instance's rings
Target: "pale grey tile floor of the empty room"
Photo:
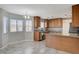
[[[0,54],[69,54],[65,51],[48,48],[44,41],[40,42],[21,42],[12,44],[4,49],[0,49]]]

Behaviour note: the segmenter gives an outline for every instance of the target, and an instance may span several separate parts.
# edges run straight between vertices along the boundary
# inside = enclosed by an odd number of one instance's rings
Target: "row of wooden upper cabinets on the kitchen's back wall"
[[[56,18],[56,19],[50,19],[49,20],[49,28],[52,28],[52,27],[62,27],[63,25],[63,22],[62,22],[62,18]]]

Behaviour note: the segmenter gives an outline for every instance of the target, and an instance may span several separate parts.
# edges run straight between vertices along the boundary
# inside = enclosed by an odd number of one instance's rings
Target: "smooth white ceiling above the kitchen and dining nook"
[[[72,4],[0,4],[4,10],[42,18],[71,17]]]

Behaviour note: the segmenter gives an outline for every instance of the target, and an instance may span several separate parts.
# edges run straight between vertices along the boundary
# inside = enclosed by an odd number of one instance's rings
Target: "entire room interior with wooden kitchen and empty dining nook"
[[[0,6],[0,53],[79,53],[78,4]]]

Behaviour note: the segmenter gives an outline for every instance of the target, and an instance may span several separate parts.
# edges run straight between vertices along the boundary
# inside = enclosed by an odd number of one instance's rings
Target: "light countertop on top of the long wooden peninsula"
[[[65,36],[65,37],[74,37],[74,38],[79,38],[79,35],[77,33],[47,33],[49,36],[55,35],[55,36]]]

